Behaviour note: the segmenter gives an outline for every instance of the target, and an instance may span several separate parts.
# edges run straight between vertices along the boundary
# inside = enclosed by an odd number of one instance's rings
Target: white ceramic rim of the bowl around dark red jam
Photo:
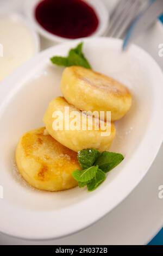
[[[109,26],[109,13],[108,9],[105,7],[104,3],[101,0],[84,0],[89,3],[93,9],[95,9],[97,16],[99,18],[99,26],[96,29],[95,33],[91,36],[87,36],[87,38],[92,36],[103,35],[106,31],[106,28]],[[49,33],[44,29],[35,19],[35,7],[40,2],[40,0],[28,0],[24,2],[24,12],[26,13],[29,20],[33,23],[33,26],[36,30],[45,38],[54,41],[54,42],[64,42],[64,41],[73,41],[74,39],[66,39],[61,36],[54,35]]]

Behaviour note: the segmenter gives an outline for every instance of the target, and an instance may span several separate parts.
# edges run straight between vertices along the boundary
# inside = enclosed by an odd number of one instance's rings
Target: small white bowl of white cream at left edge
[[[0,14],[0,82],[40,50],[39,36],[19,14]]]

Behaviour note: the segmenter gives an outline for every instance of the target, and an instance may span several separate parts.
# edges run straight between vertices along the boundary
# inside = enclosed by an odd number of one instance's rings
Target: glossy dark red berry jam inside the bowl
[[[82,0],[43,0],[35,19],[46,31],[69,39],[89,36],[99,24],[95,10]]]

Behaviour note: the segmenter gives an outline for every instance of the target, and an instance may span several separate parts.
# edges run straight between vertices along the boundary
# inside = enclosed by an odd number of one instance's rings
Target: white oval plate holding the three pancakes
[[[48,102],[60,95],[62,68],[49,58],[65,55],[79,40],[39,53],[0,87],[0,231],[27,239],[51,239],[72,234],[99,220],[120,203],[145,176],[162,142],[163,75],[158,64],[137,46],[121,52],[121,40],[84,40],[93,69],[126,84],[133,94],[130,112],[116,122],[112,151],[124,161],[94,192],[74,188],[43,192],[30,188],[17,174],[14,153],[23,132],[42,126]]]

